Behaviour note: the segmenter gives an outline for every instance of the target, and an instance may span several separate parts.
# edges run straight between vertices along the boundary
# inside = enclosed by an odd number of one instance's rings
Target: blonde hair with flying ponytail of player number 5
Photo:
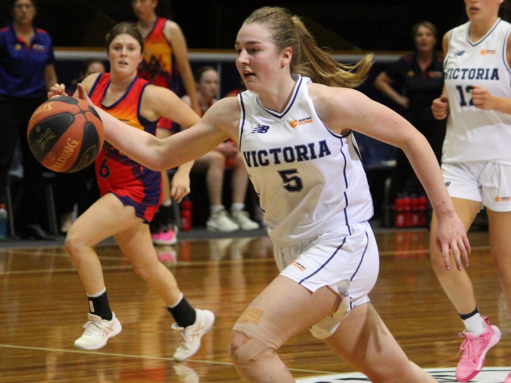
[[[328,51],[317,46],[300,18],[284,8],[259,8],[245,20],[245,23],[251,22],[268,26],[279,51],[291,47],[291,73],[310,77],[316,83],[354,88],[365,80],[373,65],[373,55],[365,56],[355,65],[337,62]]]

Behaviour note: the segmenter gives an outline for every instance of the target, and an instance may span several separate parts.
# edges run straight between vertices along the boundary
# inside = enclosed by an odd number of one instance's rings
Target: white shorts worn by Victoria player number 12
[[[449,195],[481,202],[494,211],[511,211],[511,165],[488,162],[448,162],[442,174]]]

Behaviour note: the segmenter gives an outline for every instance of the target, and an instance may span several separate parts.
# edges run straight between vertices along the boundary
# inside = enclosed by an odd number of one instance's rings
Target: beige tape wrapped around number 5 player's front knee
[[[238,371],[247,381],[268,381],[286,371],[275,352],[287,340],[286,333],[262,316],[262,309],[248,308],[233,327],[248,339],[233,354]]]

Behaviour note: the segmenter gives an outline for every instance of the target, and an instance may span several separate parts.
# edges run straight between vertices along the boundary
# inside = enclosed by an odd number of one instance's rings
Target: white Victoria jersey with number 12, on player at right
[[[496,97],[511,97],[506,46],[511,25],[497,20],[479,41],[469,39],[470,21],[449,33],[445,87],[450,115],[442,162],[511,161],[511,115],[472,103],[472,86]]]

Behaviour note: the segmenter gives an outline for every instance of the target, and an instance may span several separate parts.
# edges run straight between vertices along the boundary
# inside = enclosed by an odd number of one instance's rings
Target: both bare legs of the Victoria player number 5
[[[285,342],[333,314],[339,303],[339,295],[328,287],[312,294],[291,279],[277,276],[250,303],[241,318],[248,318],[251,324],[261,326],[261,333],[271,327],[273,333],[278,333],[278,337]],[[408,361],[372,305],[363,304],[355,308],[347,318],[350,320],[326,340],[327,345],[339,356],[354,363],[375,382],[434,382],[433,378]],[[239,320],[237,325],[241,322]],[[247,336],[243,331],[233,330],[230,354],[240,375],[250,382],[294,382],[276,350],[261,346],[258,334],[255,334],[255,338],[253,335]],[[373,366],[382,364],[385,366]]]

